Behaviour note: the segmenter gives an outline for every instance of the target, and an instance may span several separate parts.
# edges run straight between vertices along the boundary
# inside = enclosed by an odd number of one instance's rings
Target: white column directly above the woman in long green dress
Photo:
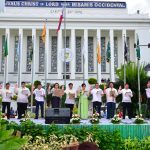
[[[88,79],[88,30],[84,29],[84,78]]]

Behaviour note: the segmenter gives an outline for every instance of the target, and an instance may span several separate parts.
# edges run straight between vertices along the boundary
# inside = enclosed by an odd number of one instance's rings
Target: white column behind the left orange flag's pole
[[[48,52],[49,52],[49,29],[46,29],[45,40],[45,79],[48,79]]]

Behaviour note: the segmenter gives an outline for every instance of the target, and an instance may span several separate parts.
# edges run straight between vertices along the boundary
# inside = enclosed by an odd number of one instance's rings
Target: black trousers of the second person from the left
[[[22,115],[26,113],[28,103],[17,103],[18,119],[22,118]]]

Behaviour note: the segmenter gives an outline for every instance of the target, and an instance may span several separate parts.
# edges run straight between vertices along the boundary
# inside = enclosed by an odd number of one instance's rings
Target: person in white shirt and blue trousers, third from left
[[[45,90],[42,88],[41,83],[38,84],[37,89],[33,91],[36,100],[35,119],[39,117],[39,106],[41,107],[41,118],[44,118],[44,98]]]

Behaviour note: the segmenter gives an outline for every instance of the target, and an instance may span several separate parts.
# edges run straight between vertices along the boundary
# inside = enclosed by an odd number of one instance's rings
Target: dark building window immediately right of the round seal
[[[76,37],[76,72],[82,72],[81,37]]]

